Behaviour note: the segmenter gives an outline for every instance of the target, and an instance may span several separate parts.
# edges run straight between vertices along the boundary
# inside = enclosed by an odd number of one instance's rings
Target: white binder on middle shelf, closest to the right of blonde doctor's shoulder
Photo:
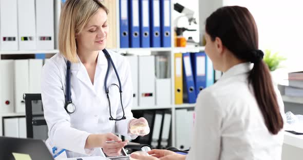
[[[126,56],[130,64],[132,91],[132,107],[138,107],[138,56]]]

